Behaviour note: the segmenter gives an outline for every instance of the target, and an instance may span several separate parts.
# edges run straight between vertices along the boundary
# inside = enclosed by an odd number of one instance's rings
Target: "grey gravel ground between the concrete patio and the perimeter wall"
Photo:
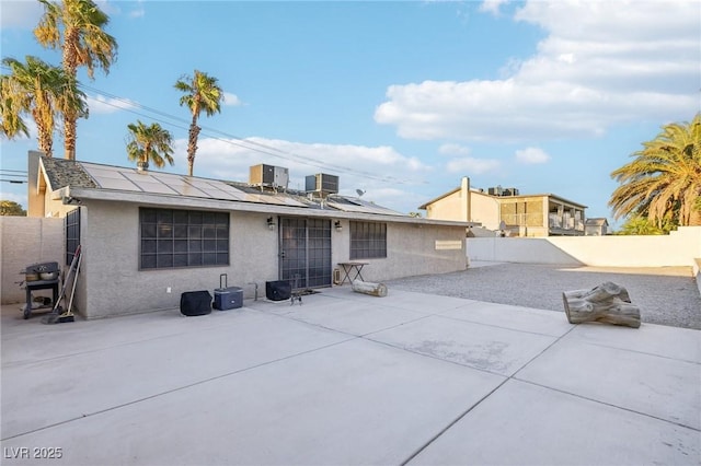
[[[643,323],[701,329],[701,295],[691,269],[619,269],[496,264],[387,281],[390,290],[466,298],[564,313],[562,292],[606,281],[625,287]]]

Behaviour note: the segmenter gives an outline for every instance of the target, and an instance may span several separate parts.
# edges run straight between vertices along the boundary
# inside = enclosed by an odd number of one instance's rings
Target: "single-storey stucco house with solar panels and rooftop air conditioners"
[[[267,281],[332,287],[340,263],[367,263],[366,281],[467,267],[464,222],[341,196],[331,175],[292,191],[287,170],[269,165],[234,183],[38,152],[28,173],[28,215],[65,219],[66,265],[81,245],[74,305],[88,318],[177,307],[181,293],[211,292],[221,273],[249,299]]]

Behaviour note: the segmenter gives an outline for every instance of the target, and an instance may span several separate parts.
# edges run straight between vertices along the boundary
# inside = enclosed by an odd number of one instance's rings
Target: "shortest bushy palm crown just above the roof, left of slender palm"
[[[148,168],[149,162],[153,162],[159,168],[165,166],[165,162],[173,165],[173,137],[161,128],[158,123],[150,126],[143,125],[140,120],[127,125],[129,128],[129,140],[127,142],[127,156],[130,161],[136,161],[139,168]]]

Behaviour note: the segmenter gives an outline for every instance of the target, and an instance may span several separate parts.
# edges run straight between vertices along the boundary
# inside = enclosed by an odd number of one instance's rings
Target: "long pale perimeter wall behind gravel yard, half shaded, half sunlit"
[[[474,237],[470,260],[588,265],[600,267],[693,267],[701,257],[701,226],[659,236]]]

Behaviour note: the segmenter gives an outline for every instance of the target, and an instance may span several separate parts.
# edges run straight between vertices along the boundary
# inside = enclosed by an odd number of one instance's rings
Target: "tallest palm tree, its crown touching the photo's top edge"
[[[110,18],[92,0],[61,0],[44,4],[44,16],[34,30],[39,44],[62,50],[62,67],[77,80],[78,67],[87,67],[88,77],[94,78],[95,67],[110,71],[115,61],[117,42],[103,28]],[[77,120],[88,114],[67,112],[64,116],[65,158],[76,160]]]

